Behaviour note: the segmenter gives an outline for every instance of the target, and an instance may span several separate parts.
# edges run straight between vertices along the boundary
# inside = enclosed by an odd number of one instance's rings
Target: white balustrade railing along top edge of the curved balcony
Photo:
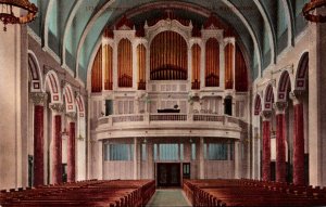
[[[97,127],[126,125],[156,125],[156,124],[191,124],[221,125],[239,127],[239,120],[228,115],[216,114],[127,114],[110,115],[98,119]]]

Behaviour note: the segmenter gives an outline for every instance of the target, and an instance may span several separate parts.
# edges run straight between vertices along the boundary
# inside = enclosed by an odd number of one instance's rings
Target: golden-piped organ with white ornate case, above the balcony
[[[92,63],[91,91],[148,90],[160,80],[184,80],[189,90],[247,91],[248,68],[235,37],[210,21],[199,37],[190,21],[170,18],[145,23],[142,33],[129,22],[105,29]]]

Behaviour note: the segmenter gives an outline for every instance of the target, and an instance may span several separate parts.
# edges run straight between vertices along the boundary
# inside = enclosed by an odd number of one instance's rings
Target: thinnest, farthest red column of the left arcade
[[[67,182],[76,180],[76,113],[68,113],[70,130],[67,139]]]

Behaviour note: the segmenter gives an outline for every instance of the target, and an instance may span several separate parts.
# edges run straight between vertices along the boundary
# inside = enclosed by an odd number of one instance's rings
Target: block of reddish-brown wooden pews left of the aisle
[[[88,180],[1,191],[0,206],[140,207],[154,192],[153,180]]]

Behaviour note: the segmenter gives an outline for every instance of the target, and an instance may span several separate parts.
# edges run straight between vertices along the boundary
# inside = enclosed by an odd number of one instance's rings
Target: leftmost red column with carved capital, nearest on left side
[[[35,92],[29,94],[34,102],[34,186],[45,184],[45,142],[43,142],[43,104],[47,93]]]

